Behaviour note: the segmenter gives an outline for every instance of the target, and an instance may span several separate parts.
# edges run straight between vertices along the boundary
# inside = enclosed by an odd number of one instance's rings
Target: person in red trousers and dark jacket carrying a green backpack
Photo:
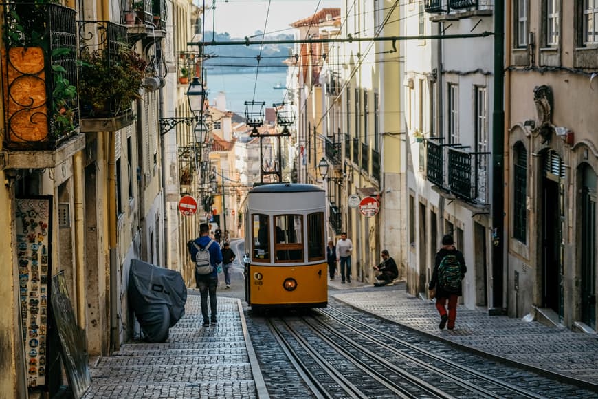
[[[436,309],[440,314],[439,327],[441,330],[445,326],[449,330],[455,327],[457,301],[458,297],[463,295],[461,280],[465,277],[465,272],[467,272],[467,267],[465,266],[463,253],[456,250],[452,235],[444,235],[442,237],[442,247],[436,253],[432,280],[428,285],[429,290],[436,288]],[[447,301],[448,314],[445,308]]]

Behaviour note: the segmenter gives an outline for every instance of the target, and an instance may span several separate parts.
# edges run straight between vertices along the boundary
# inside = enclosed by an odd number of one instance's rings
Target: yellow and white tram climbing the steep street
[[[324,190],[265,184],[245,199],[245,300],[252,310],[325,308]]]

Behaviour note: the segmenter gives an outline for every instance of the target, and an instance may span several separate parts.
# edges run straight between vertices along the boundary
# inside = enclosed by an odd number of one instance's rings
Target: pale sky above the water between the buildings
[[[195,0],[201,7],[203,0]],[[213,10],[210,6],[215,4]],[[290,24],[325,7],[339,7],[341,0],[205,0],[206,31],[228,32],[233,38],[294,31]]]

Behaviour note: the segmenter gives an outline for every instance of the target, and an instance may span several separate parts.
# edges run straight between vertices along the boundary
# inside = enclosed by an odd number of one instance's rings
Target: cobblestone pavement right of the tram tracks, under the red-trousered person
[[[406,293],[404,283],[374,288],[356,283],[331,281],[335,299],[395,323],[412,327],[434,338],[496,356],[545,374],[564,376],[598,391],[598,335],[548,327],[537,321],[522,321],[487,312],[457,308],[454,330],[439,330],[439,315],[433,300]]]

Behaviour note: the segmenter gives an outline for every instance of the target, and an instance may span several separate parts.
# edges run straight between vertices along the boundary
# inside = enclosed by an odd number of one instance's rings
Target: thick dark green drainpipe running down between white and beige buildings
[[[492,303],[489,312],[502,313],[503,261],[505,250],[504,212],[504,94],[505,0],[494,3],[494,112],[492,117]],[[502,308],[502,309],[500,309]],[[494,311],[493,311],[494,309]]]

